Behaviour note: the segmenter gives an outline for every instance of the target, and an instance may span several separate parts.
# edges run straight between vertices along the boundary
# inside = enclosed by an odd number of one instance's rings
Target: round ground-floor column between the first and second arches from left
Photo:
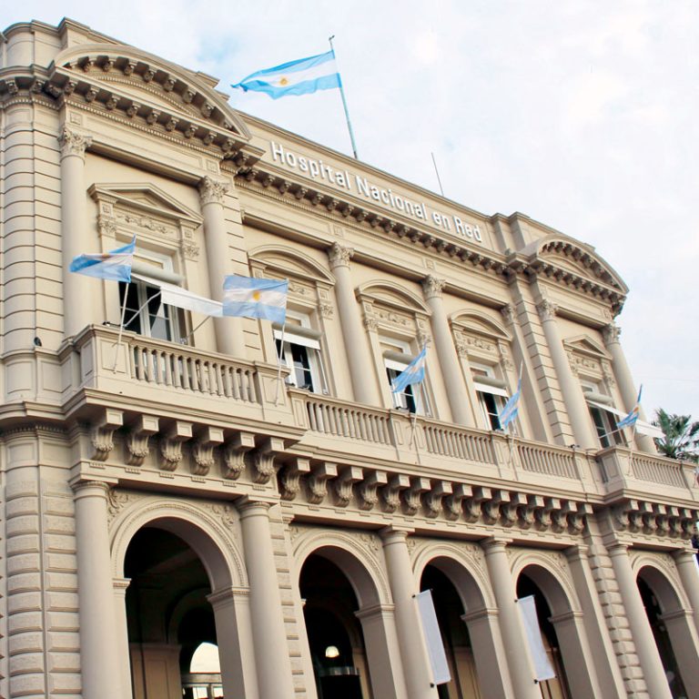
[[[259,699],[293,699],[289,645],[269,527],[268,501],[238,506],[250,587],[250,622]]]

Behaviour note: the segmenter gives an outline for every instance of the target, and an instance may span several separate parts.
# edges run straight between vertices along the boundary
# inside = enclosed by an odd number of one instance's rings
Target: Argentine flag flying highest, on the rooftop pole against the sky
[[[287,95],[309,95],[317,90],[339,87],[339,73],[335,66],[335,52],[300,58],[281,66],[258,70],[243,78],[238,84],[246,92],[265,92],[272,99]]]

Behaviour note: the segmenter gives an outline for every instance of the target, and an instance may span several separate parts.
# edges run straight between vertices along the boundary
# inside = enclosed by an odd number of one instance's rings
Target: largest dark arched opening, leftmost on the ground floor
[[[197,553],[176,534],[147,526],[129,542],[124,569],[134,699],[223,696],[210,658],[217,647],[211,585]],[[206,677],[191,672],[202,644],[218,670]]]

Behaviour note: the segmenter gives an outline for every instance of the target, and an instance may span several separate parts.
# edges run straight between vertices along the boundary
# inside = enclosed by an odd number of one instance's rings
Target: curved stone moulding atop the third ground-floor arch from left
[[[463,609],[467,613],[496,606],[485,573],[474,565],[469,555],[456,545],[426,542],[413,559],[415,577],[420,580],[428,565],[443,572],[461,597]]]

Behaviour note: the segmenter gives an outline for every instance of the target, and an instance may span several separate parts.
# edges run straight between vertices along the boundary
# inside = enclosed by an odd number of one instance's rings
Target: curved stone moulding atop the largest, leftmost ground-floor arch
[[[136,532],[155,526],[173,533],[197,553],[211,590],[248,587],[243,556],[230,532],[213,512],[191,502],[147,498],[125,507],[111,523],[112,570],[124,577],[128,544]]]

